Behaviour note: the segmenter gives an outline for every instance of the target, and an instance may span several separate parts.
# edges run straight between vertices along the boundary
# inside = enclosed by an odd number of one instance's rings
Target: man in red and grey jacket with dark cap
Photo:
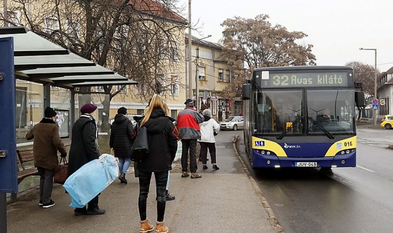
[[[193,100],[188,99],[184,104],[186,104],[186,108],[179,112],[175,123],[179,129],[179,137],[182,143],[181,167],[183,173],[181,177],[190,176],[187,173],[188,150],[190,149],[191,178],[201,178],[202,176],[197,174],[196,153],[197,139],[200,139],[199,123],[204,121],[204,117],[194,108]]]

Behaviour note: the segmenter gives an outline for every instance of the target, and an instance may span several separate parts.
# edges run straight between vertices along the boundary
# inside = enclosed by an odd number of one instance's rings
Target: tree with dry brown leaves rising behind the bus
[[[232,79],[225,94],[233,95],[256,67],[315,65],[312,45],[300,45],[297,41],[307,37],[301,31],[288,31],[284,26],[272,26],[268,15],[254,19],[234,17],[225,20],[223,52],[233,69],[244,69],[239,80]],[[239,95],[239,92],[237,92]]]

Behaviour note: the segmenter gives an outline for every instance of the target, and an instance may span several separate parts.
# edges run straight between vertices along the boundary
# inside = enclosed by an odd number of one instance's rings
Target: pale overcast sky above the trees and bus
[[[188,0],[180,0],[188,19]],[[201,36],[217,42],[220,24],[227,18],[270,16],[272,25],[308,34],[304,43],[313,44],[317,65],[344,65],[361,61],[387,71],[393,67],[393,0],[192,0],[192,21],[200,21]],[[390,63],[390,64],[384,64]]]

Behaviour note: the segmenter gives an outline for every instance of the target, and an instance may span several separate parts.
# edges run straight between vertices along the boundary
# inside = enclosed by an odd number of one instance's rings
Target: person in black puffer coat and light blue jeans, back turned
[[[114,117],[111,129],[109,146],[114,150],[114,156],[119,158],[119,180],[127,183],[125,178],[131,164],[131,147],[134,129],[132,122],[127,117],[127,108],[120,107]]]

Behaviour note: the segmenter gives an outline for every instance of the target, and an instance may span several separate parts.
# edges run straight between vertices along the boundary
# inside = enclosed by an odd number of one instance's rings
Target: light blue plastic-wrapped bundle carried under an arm
[[[70,207],[82,208],[108,187],[118,176],[116,158],[103,154],[84,164],[63,184],[71,196]]]

